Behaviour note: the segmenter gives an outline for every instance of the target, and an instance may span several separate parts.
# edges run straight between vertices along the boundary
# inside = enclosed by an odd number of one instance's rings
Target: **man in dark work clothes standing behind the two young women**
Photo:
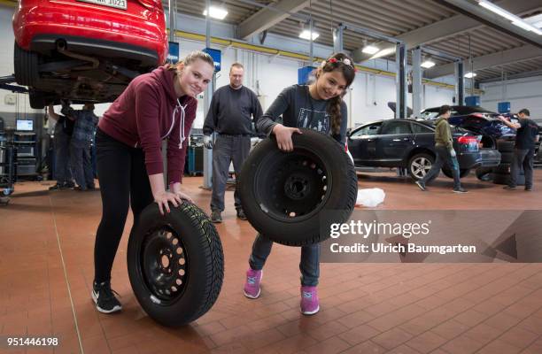
[[[204,144],[213,149],[213,197],[211,221],[221,222],[224,211],[224,193],[228,181],[229,164],[233,161],[236,176],[251,150],[252,120],[256,122],[263,114],[258,96],[243,86],[244,67],[234,63],[229,69],[229,85],[222,86],[213,94],[211,107],[204,124]],[[218,133],[213,144],[211,135]],[[241,199],[234,193],[237,218],[246,220]]]

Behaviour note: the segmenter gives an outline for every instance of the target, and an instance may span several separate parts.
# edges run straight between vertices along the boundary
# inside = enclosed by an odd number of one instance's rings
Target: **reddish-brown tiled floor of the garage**
[[[202,178],[184,183],[209,212]],[[128,282],[127,230],[112,273],[124,311],[99,314],[89,295],[99,192],[49,192],[52,184],[18,184],[0,207],[0,335],[55,334],[55,353],[542,353],[540,264],[322,264],[321,312],[307,318],[298,310],[299,250],[275,245],[262,296],[245,298],[255,233],[236,219],[230,191],[218,226],[226,274],[210,312],[177,329],[149,319]],[[361,174],[360,187],[384,189],[378,209],[542,210],[540,170],[530,193],[473,176],[467,195],[442,176],[423,193],[394,173]]]

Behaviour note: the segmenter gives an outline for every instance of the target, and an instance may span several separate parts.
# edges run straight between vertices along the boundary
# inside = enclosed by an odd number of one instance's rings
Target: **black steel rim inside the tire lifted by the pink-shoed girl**
[[[254,196],[273,219],[297,222],[320,212],[329,199],[332,175],[313,151],[296,149],[265,158],[255,173]]]

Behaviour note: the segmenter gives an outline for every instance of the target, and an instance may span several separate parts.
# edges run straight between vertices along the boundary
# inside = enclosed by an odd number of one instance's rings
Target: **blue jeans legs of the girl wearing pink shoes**
[[[273,241],[261,234],[256,235],[256,239],[252,244],[251,258],[249,258],[249,265],[252,269],[259,271],[263,268],[272,247]],[[320,277],[320,243],[301,247],[299,270],[301,271],[302,286],[315,287],[318,285],[318,278]]]

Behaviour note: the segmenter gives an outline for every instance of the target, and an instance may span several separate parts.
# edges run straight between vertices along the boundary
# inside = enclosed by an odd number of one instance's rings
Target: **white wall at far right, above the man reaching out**
[[[542,76],[485,83],[480,89],[485,91],[480,97],[484,108],[497,112],[499,102],[509,102],[512,112],[527,108],[532,119],[542,121]]]

